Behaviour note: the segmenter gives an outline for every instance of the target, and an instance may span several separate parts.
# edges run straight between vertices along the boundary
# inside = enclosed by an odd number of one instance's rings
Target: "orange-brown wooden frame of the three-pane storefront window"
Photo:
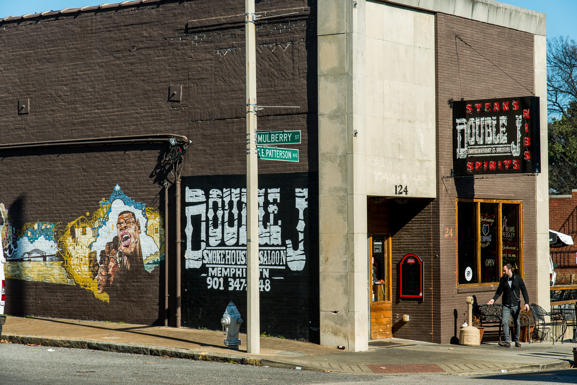
[[[459,205],[455,204],[455,255],[457,263],[457,274],[456,274],[456,285],[458,288],[469,288],[469,287],[479,287],[479,286],[496,286],[499,284],[501,276],[503,276],[503,220],[502,220],[502,210],[501,207],[503,203],[514,203],[519,205],[519,272],[521,278],[524,277],[523,269],[523,201],[509,201],[506,199],[470,199],[470,198],[455,198],[456,202],[474,202],[475,203],[475,255],[477,256],[477,282],[478,284],[459,284]],[[496,282],[485,282],[481,284],[481,232],[479,231],[480,217],[481,217],[481,202],[484,203],[499,203],[497,206],[497,216],[499,220],[497,221],[497,259],[499,262],[499,268],[497,269],[497,281]]]

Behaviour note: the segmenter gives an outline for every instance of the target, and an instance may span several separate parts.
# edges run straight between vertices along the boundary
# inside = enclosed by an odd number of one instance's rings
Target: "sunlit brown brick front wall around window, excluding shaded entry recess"
[[[445,228],[455,235],[455,198],[519,199],[523,201],[523,278],[531,301],[536,294],[535,246],[535,177],[511,176],[481,179],[447,178],[452,168],[452,110],[447,100],[489,99],[530,96],[534,89],[533,35],[496,27],[460,17],[437,14],[436,92],[437,92],[437,199],[433,204],[437,216],[436,236],[440,238],[440,297],[437,317],[440,318],[440,339],[448,343],[455,337],[456,326],[462,324],[467,306],[465,298],[473,296],[478,304],[486,303],[493,292],[471,292],[456,287],[455,237],[445,237]],[[461,37],[478,52],[495,63],[509,78],[477,52],[457,39]],[[459,293],[459,291],[461,291]],[[469,291],[464,293],[464,291]],[[458,337],[458,334],[456,335]],[[438,337],[437,337],[438,338]]]

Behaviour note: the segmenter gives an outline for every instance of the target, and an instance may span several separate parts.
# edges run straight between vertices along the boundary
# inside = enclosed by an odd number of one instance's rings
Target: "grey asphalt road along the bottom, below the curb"
[[[48,349],[54,350],[53,352]],[[577,369],[545,374],[456,376],[362,376],[343,373],[296,371],[237,364],[100,352],[0,344],[0,384],[567,384],[577,383]]]

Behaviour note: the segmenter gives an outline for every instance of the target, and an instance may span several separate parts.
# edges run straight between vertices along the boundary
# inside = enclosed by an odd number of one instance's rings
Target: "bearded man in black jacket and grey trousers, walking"
[[[519,334],[521,333],[521,324],[519,322],[519,316],[521,314],[521,299],[519,298],[519,290],[523,293],[525,310],[529,310],[529,295],[527,294],[525,282],[523,282],[523,278],[521,278],[520,275],[513,273],[513,270],[511,270],[512,267],[511,263],[507,263],[507,265],[503,266],[503,277],[501,277],[501,280],[499,281],[497,292],[493,299],[487,303],[488,305],[492,305],[494,301],[499,298],[501,293],[503,294],[501,322],[503,323],[505,342],[499,342],[499,345],[505,346],[505,348],[511,347],[511,337],[509,337],[509,318],[511,318],[511,316],[515,323],[515,346],[518,348],[521,346],[521,343],[519,342]]]

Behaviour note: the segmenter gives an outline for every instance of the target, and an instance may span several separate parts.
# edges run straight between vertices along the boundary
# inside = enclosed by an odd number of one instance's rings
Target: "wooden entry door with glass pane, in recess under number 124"
[[[392,337],[391,236],[371,234],[370,252],[370,338]]]

